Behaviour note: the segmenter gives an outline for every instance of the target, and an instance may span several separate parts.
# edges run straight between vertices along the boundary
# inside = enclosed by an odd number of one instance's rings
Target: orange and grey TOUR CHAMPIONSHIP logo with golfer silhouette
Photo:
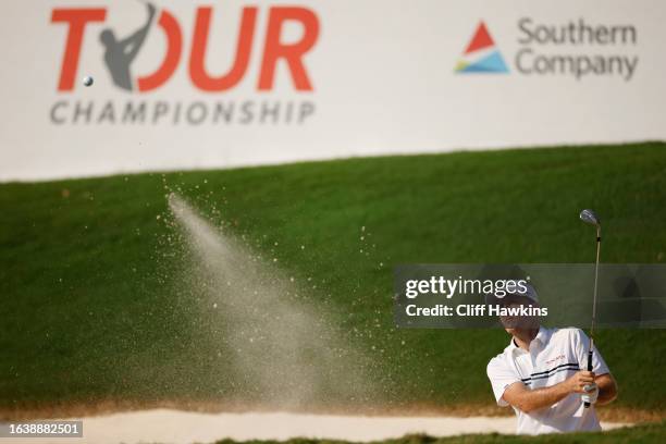
[[[317,14],[303,7],[266,7],[264,23],[259,23],[259,7],[244,7],[239,11],[236,41],[215,41],[214,46],[230,45],[235,49],[230,67],[223,73],[210,73],[207,59],[215,54],[211,50],[210,35],[214,10],[199,7],[195,12],[192,29],[183,26],[177,15],[159,10],[152,3],[145,4],[145,21],[127,35],[119,35],[107,25],[107,8],[55,8],[51,11],[51,24],[66,27],[63,41],[62,62],[59,71],[58,91],[75,95],[81,84],[82,48],[87,39],[96,39],[99,55],[108,70],[110,83],[130,100],[104,102],[94,100],[55,101],[50,118],[54,124],[301,124],[314,113],[311,97],[314,90],[306,58],[316,47],[319,37]],[[229,18],[226,18],[229,20]],[[226,22],[227,23],[227,22]],[[295,23],[303,29],[296,41],[283,42],[284,28]],[[260,26],[266,26],[260,29]],[[256,45],[259,30],[264,30],[262,45]],[[186,33],[192,33],[190,47],[185,48]],[[144,51],[156,51],[155,45],[147,46],[151,33],[161,33],[165,45],[161,51],[159,66],[150,73],[136,73],[135,61]],[[157,39],[156,39],[157,40]],[[262,51],[256,70],[250,67],[252,48]],[[276,65],[286,66],[288,78],[279,79]],[[183,66],[185,65],[185,66]],[[150,100],[149,92],[160,90],[172,79],[176,69],[185,67],[192,95],[197,98],[187,101]],[[284,73],[284,71],[281,71]],[[223,100],[221,97],[233,92],[239,83],[255,76],[255,94],[243,100]],[[291,84],[293,100],[271,100],[270,92],[275,83]],[[144,96],[146,95],[146,96]],[[284,97],[284,96],[282,96]],[[211,100],[214,98],[214,100]]]

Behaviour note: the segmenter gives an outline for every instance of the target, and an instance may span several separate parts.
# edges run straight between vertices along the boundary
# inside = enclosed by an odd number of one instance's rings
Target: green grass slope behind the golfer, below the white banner
[[[387,157],[0,185],[0,407],[243,399],[193,329],[165,195],[178,190],[328,298],[382,405],[493,405],[502,331],[397,330],[392,266],[666,259],[666,145]],[[534,219],[539,215],[539,220]],[[361,236],[363,237],[361,239]],[[278,243],[278,245],[275,245]],[[309,281],[308,281],[309,279]],[[616,407],[666,408],[664,331],[602,331]],[[338,399],[338,402],[342,402]]]

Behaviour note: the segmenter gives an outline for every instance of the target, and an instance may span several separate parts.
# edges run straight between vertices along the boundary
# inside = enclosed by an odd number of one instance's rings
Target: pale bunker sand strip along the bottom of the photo
[[[77,418],[72,418],[74,420]],[[78,418],[81,419],[81,418]],[[513,433],[516,419],[454,417],[362,417],[301,414],[199,414],[153,409],[83,418],[84,437],[0,439],[12,443],[211,443],[230,437],[287,440],[291,437],[374,441],[408,433],[449,436],[465,433]],[[604,430],[625,424],[602,423]]]

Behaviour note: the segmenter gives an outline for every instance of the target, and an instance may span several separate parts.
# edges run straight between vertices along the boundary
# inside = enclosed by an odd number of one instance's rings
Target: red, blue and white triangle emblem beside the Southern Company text
[[[502,53],[495,46],[485,23],[479,23],[462,59],[456,65],[457,73],[508,73]]]

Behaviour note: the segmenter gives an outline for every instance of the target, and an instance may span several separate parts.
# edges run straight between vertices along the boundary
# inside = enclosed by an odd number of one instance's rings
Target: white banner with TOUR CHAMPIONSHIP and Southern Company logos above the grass
[[[1,8],[1,181],[666,138],[657,0]]]

